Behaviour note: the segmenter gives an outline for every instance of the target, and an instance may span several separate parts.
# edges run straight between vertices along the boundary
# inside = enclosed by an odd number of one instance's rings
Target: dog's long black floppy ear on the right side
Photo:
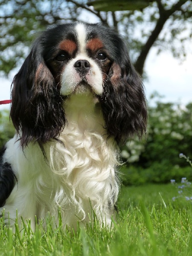
[[[134,134],[141,137],[146,131],[147,122],[141,78],[131,65],[128,54],[121,57],[119,63],[111,65],[100,100],[108,134],[118,144]]]

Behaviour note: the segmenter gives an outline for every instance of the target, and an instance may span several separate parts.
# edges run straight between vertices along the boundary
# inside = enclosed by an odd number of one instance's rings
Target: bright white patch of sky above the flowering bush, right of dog
[[[145,66],[148,75],[148,81],[144,82],[147,98],[157,91],[164,96],[163,102],[191,102],[191,63],[192,54],[179,64],[179,60],[173,58],[169,52],[155,55],[155,51],[151,51]]]

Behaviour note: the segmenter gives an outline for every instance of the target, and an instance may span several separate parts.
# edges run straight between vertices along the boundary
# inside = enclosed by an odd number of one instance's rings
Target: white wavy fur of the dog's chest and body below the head
[[[119,191],[119,151],[108,138],[97,105],[89,92],[66,100],[67,125],[60,142],[46,144],[47,161],[37,144],[30,143],[23,151],[17,137],[7,143],[4,161],[11,163],[18,184],[6,201],[6,217],[9,212],[15,220],[17,209],[19,223],[20,216],[30,218],[35,229],[35,215],[45,220],[47,212],[58,224],[60,208],[63,226],[75,228],[77,221],[89,221],[93,209],[100,221],[111,223]]]

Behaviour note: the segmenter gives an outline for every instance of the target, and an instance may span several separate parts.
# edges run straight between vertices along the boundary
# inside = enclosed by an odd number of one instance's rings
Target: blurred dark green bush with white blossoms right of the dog
[[[148,107],[147,140],[137,138],[122,148],[125,184],[192,180],[192,170],[179,154],[192,155],[192,103],[157,102]]]

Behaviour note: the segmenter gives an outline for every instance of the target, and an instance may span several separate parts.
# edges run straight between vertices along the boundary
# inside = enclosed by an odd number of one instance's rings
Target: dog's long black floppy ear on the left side
[[[22,147],[32,141],[43,148],[43,144],[56,139],[64,127],[62,99],[44,62],[40,39],[35,41],[13,79],[10,115]]]

